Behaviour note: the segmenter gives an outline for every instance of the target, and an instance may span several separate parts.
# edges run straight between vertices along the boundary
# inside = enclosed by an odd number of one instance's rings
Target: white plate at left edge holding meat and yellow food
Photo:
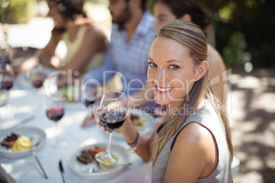
[[[46,133],[43,130],[33,127],[21,127],[1,132],[0,141],[3,141],[3,139],[5,139],[5,137],[7,137],[8,135],[12,135],[12,132],[18,135],[25,135],[26,137],[31,138],[31,143],[33,144],[36,144],[39,140],[41,140],[38,146],[36,147],[38,151],[43,147],[47,139]],[[23,158],[29,155],[31,155],[31,152],[29,150],[14,152],[11,148],[7,149],[5,146],[0,145],[0,156],[4,158]]]

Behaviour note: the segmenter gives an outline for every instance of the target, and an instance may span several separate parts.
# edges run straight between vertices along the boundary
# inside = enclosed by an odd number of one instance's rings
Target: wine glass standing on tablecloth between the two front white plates
[[[49,119],[55,122],[56,137],[50,142],[52,147],[65,147],[68,143],[59,138],[57,122],[63,117],[65,112],[65,100],[63,97],[47,98],[46,115]]]

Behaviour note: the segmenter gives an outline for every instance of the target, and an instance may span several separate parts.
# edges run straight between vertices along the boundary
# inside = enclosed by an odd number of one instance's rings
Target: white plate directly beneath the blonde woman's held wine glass
[[[112,169],[107,169],[107,170],[99,170],[98,172],[95,173],[88,173],[85,171],[81,171],[81,169],[87,167],[88,165],[85,165],[83,163],[80,163],[77,160],[77,156],[81,154],[82,150],[85,150],[86,147],[94,147],[96,145],[106,147],[107,143],[94,143],[90,145],[84,145],[83,147],[79,148],[75,153],[73,153],[72,156],[70,156],[70,168],[73,169],[73,171],[80,177],[86,180],[108,180],[111,178],[116,177],[122,171],[125,170],[125,166],[118,166],[114,167]],[[115,152],[118,155],[118,164],[127,164],[129,163],[129,152],[125,150],[124,147],[121,145],[118,145],[118,143],[111,143],[111,151]]]

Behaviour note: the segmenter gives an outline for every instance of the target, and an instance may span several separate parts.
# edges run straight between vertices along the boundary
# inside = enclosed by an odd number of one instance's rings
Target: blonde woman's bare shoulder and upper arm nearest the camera
[[[218,164],[218,150],[211,132],[191,123],[179,133],[171,151],[163,182],[197,182]]]

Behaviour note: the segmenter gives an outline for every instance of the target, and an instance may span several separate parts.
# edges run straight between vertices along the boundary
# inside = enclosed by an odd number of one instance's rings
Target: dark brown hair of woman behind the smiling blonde
[[[184,14],[189,14],[192,23],[195,23],[205,31],[211,23],[211,15],[204,10],[196,0],[155,0],[155,3],[164,3],[168,5],[177,19]]]

